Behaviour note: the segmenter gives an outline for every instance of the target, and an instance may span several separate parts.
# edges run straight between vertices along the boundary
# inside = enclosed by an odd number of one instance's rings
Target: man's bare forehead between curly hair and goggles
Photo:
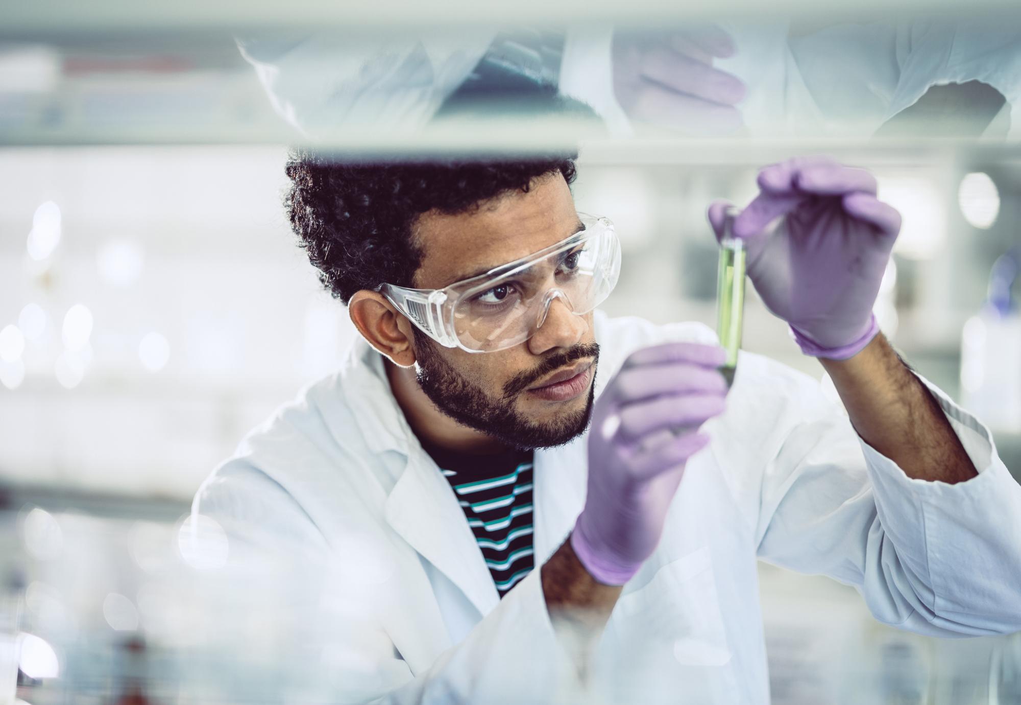
[[[477,210],[423,214],[416,237],[423,249],[414,286],[439,289],[479,272],[514,262],[575,232],[578,214],[560,172],[532,182]]]

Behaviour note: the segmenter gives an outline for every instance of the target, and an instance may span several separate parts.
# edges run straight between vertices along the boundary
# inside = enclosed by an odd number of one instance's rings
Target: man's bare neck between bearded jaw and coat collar
[[[415,368],[398,367],[383,359],[390,389],[415,435],[425,442],[454,453],[489,455],[506,450],[491,436],[469,428],[441,412],[415,378]]]

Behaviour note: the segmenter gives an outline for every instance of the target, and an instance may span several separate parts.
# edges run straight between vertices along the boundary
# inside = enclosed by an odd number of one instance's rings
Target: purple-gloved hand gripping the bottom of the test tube
[[[597,581],[621,585],[660,543],[697,432],[724,409],[718,345],[668,343],[631,355],[592,410],[588,495],[571,546]],[[676,433],[676,435],[675,435]]]

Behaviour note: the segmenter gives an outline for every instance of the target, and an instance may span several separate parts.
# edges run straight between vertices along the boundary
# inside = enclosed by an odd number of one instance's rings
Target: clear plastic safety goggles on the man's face
[[[445,347],[493,353],[528,340],[554,299],[575,315],[599,306],[621,271],[621,244],[605,218],[579,214],[583,230],[442,289],[383,284],[377,291]]]

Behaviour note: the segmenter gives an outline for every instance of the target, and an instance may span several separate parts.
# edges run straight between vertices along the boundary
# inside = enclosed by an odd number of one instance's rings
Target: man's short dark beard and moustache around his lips
[[[588,427],[595,398],[595,372],[599,361],[597,343],[574,345],[546,358],[535,368],[515,375],[503,385],[502,395],[495,398],[457,372],[435,345],[426,336],[417,336],[416,379],[429,401],[454,421],[505,445],[523,450],[564,445]],[[542,423],[532,421],[515,409],[515,400],[531,384],[583,358],[593,358],[593,375],[584,409]]]

